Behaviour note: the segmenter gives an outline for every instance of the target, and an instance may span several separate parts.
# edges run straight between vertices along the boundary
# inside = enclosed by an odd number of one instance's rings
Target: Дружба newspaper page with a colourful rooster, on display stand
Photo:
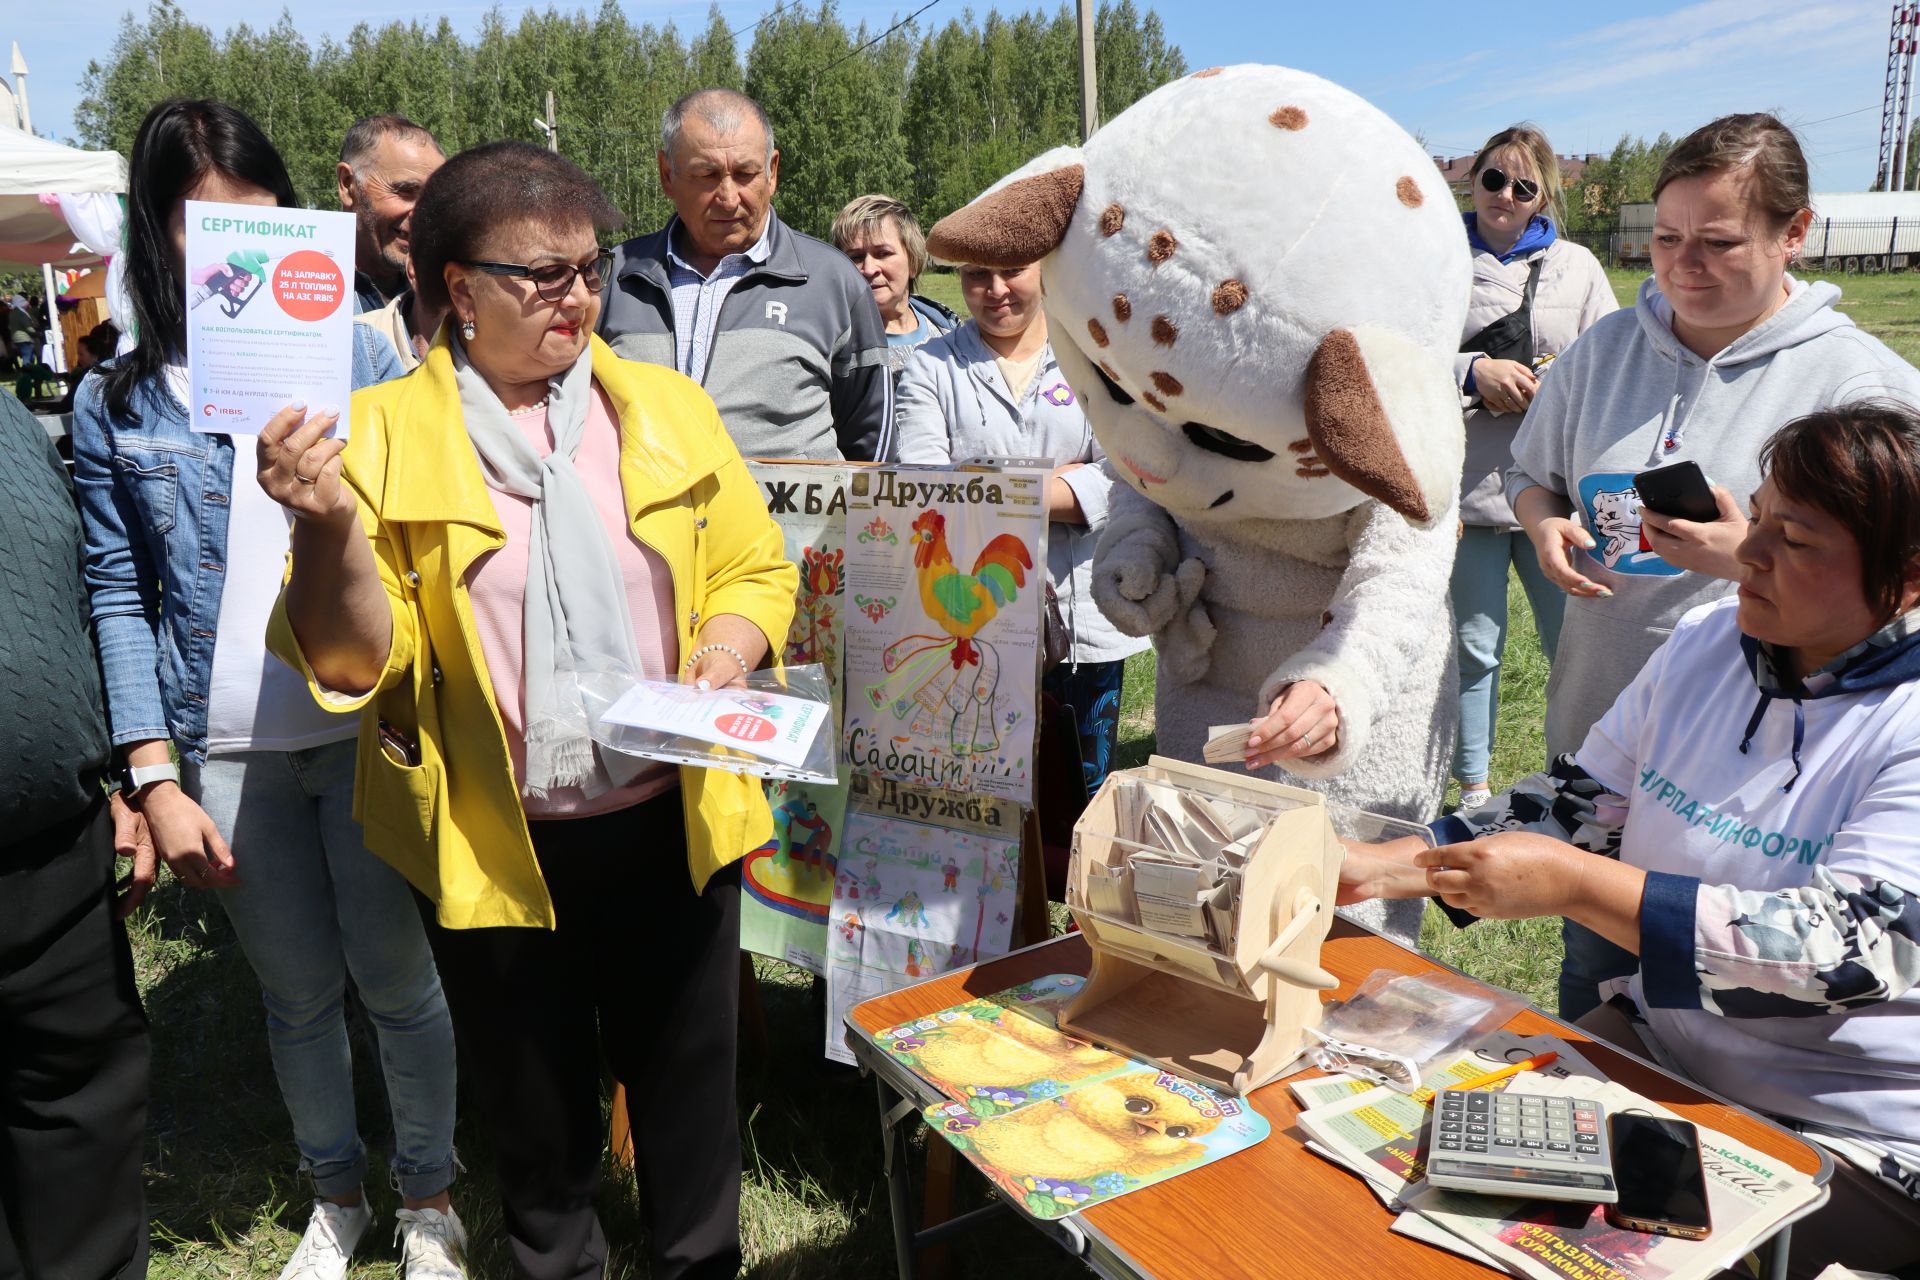
[[[847,493],[845,760],[1033,802],[1046,470],[858,470]]]

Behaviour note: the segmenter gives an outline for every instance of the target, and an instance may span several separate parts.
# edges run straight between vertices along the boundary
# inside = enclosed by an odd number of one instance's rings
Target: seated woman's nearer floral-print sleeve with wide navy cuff
[[[1651,871],[1640,975],[1651,1006],[1720,1017],[1822,1017],[1884,1004],[1920,983],[1920,896],[1830,867],[1780,890]]]

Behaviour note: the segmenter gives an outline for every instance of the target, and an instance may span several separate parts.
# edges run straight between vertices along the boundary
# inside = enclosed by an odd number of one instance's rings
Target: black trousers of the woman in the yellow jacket
[[[653,1280],[739,1270],[739,865],[703,894],[680,793],[536,821],[559,929],[428,923],[528,1280],[593,1280],[607,1125],[601,1063],[626,1084]]]

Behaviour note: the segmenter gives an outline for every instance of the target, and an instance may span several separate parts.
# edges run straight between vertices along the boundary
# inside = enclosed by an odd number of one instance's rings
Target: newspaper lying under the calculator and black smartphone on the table
[[[1680,1119],[1622,1084],[1597,1077],[1538,1080],[1530,1092],[1594,1098],[1607,1111],[1647,1111]],[[1713,1234],[1678,1240],[1622,1230],[1599,1205],[1501,1196],[1469,1196],[1434,1186],[1409,1190],[1394,1230],[1425,1219],[1486,1253],[1494,1265],[1536,1280],[1707,1280],[1753,1247],[1780,1222],[1799,1217],[1824,1192],[1812,1178],[1736,1138],[1699,1126],[1701,1167]],[[1425,1230],[1425,1228],[1423,1228]]]

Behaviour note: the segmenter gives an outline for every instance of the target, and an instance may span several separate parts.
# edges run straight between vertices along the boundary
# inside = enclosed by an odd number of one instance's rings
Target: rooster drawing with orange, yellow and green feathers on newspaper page
[[[887,679],[868,689],[874,706],[893,704],[895,716],[914,706],[927,718],[945,710],[954,754],[996,750],[998,725],[993,695],[1000,683],[1000,658],[979,631],[1020,597],[1033,570],[1033,555],[1012,533],[989,541],[962,574],[947,547],[947,516],[924,510],[912,526],[914,578],[920,608],[941,635],[906,635],[881,656]],[[916,731],[931,727],[931,720]]]

